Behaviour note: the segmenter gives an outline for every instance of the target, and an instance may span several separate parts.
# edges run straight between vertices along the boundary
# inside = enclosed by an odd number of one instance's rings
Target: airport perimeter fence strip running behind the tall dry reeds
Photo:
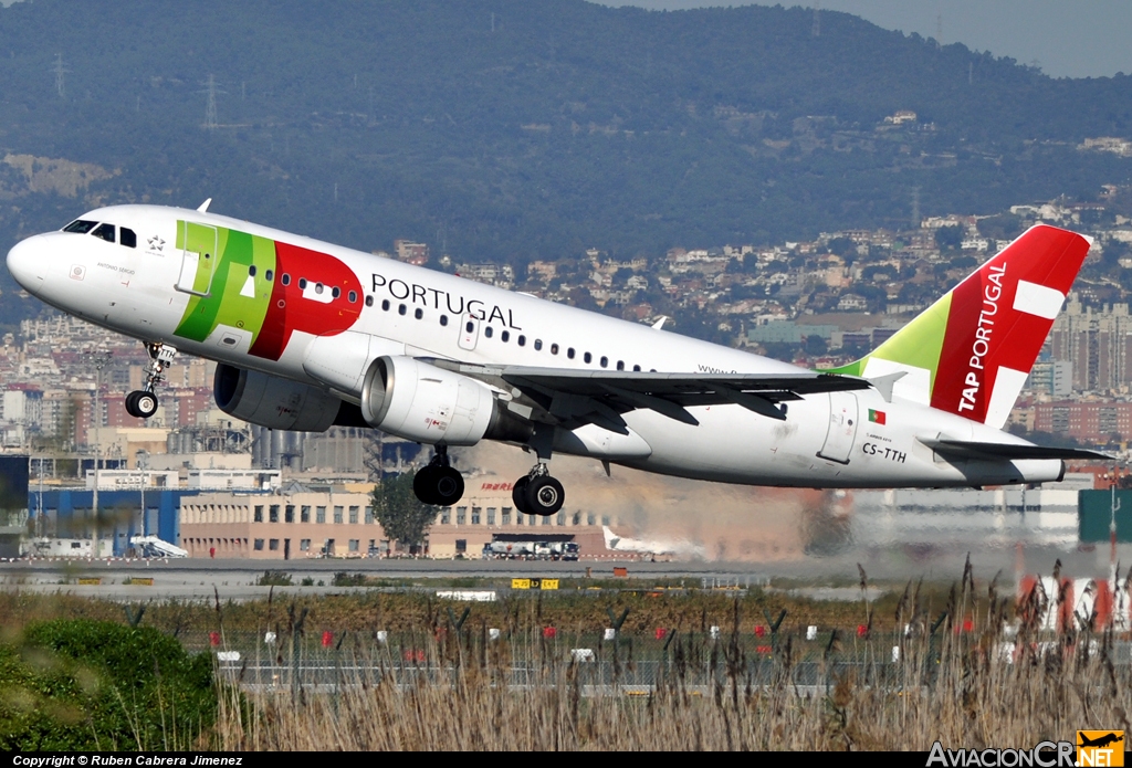
[[[704,631],[621,633],[557,630],[508,633],[488,627],[440,627],[434,631],[385,632],[192,632],[189,650],[216,653],[220,673],[254,691],[334,692],[343,687],[437,684],[468,670],[490,671],[513,688],[555,684],[568,676],[590,696],[648,693],[662,685],[707,692],[783,685],[829,693],[839,680],[887,689],[931,685],[940,661],[957,642],[987,663],[1104,654],[1132,675],[1132,642],[1097,637],[1087,645],[1064,638],[1034,639],[1027,649],[1007,637],[987,645],[946,636],[849,636],[774,632],[766,637]],[[612,631],[610,631],[612,630]],[[1028,650],[1029,653],[1026,653]]]

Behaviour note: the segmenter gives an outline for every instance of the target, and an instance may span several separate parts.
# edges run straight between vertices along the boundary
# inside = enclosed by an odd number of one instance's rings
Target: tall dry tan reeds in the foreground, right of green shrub
[[[1094,618],[1047,636],[1037,625],[1045,602],[1012,607],[992,584],[972,613],[964,573],[937,620],[910,585],[889,618],[910,633],[835,636],[809,685],[799,684],[792,636],[756,674],[734,631],[736,604],[730,636],[678,637],[658,684],[640,696],[617,684],[624,662],[573,663],[534,635],[449,633],[428,645],[423,663],[389,651],[367,659],[376,673],[343,674],[331,692],[284,687],[241,698],[228,688],[215,737],[222,749],[272,751],[928,750],[936,740],[1030,748],[1078,728],[1132,731],[1132,675],[1114,663],[1122,644],[1126,657],[1126,637],[1094,632]],[[873,606],[861,610],[872,625]],[[1015,612],[1021,625],[1007,638]],[[974,616],[972,631],[955,631],[951,616]],[[515,684],[516,668],[533,672],[529,684]],[[614,668],[615,684],[594,689],[601,668]]]

